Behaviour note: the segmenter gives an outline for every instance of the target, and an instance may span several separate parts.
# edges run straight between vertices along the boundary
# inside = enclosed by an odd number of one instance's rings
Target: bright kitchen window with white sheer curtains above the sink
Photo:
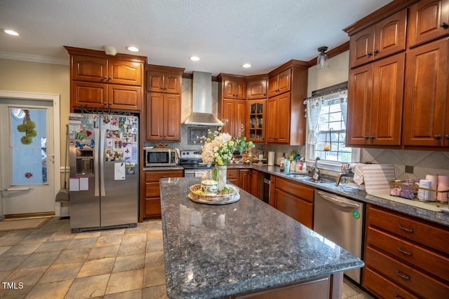
[[[358,149],[348,148],[346,139],[347,91],[310,97],[307,101],[307,160],[321,159],[333,165],[358,160]],[[325,167],[326,168],[326,167]]]

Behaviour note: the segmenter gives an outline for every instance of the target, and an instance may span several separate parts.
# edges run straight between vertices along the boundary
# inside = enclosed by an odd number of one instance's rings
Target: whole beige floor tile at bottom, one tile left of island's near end
[[[106,294],[142,289],[142,283],[143,269],[112,273],[107,284]]]

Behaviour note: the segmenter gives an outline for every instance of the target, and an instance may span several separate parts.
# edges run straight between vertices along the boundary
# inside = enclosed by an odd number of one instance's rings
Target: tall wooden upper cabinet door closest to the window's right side
[[[351,69],[348,89],[346,143],[369,144],[373,64]]]

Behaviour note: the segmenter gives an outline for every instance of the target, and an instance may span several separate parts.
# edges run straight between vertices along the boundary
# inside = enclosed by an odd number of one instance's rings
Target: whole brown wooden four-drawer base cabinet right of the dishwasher
[[[362,286],[380,298],[446,298],[449,232],[367,204]]]

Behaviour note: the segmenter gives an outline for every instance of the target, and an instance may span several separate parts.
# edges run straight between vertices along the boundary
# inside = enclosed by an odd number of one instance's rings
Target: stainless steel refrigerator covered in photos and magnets
[[[69,114],[72,232],[138,223],[137,116]]]

